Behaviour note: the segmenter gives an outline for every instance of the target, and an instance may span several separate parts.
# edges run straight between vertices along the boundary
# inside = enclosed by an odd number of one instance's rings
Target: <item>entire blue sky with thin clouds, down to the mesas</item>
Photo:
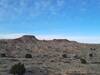
[[[24,34],[100,43],[100,0],[0,0],[0,38]]]

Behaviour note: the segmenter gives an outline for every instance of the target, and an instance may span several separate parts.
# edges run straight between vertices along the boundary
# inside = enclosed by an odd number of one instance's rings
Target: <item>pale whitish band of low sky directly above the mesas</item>
[[[23,35],[33,34],[0,34],[0,39],[15,39]],[[67,39],[70,41],[77,41],[80,43],[100,44],[100,36],[66,36],[66,35],[33,35],[39,40],[53,40],[53,39]]]

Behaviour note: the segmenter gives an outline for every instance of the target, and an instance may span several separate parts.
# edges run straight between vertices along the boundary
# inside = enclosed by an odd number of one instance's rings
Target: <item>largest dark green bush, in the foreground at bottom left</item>
[[[21,63],[13,65],[10,69],[10,73],[14,75],[24,75],[25,71],[25,66]]]

